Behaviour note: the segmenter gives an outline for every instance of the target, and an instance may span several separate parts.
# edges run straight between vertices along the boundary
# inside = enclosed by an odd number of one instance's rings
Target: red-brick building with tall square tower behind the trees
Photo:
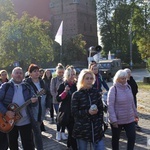
[[[56,35],[64,21],[63,38],[82,34],[87,47],[98,44],[95,0],[12,0],[15,11],[21,17],[26,11],[51,22],[52,34]]]

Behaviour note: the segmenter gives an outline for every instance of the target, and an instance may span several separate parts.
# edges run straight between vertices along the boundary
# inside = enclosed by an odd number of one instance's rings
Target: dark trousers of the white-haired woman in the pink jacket
[[[112,150],[119,150],[119,139],[120,139],[120,132],[122,127],[124,127],[124,130],[127,135],[127,150],[133,150],[134,144],[135,144],[135,123],[129,123],[129,124],[123,124],[119,125],[118,128],[114,128],[111,125],[111,131],[112,131]]]

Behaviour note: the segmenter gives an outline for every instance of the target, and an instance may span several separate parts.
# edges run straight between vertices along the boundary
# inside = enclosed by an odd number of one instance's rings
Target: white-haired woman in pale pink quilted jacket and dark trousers
[[[138,121],[131,87],[127,83],[127,73],[119,70],[114,76],[114,84],[108,92],[108,113],[112,130],[112,150],[119,150],[121,128],[127,135],[127,150],[134,149],[135,123]]]

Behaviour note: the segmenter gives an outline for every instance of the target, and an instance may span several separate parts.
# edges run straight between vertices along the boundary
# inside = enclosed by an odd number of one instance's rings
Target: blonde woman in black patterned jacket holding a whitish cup
[[[72,114],[75,119],[73,137],[77,139],[78,150],[86,150],[88,142],[94,150],[104,150],[103,104],[101,95],[92,85],[94,74],[84,69],[79,74],[77,89],[72,96]]]

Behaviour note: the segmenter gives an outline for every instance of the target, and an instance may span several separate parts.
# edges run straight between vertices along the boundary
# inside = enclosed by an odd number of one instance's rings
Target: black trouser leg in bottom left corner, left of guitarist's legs
[[[7,150],[7,149],[8,149],[7,134],[0,132],[0,150]]]

